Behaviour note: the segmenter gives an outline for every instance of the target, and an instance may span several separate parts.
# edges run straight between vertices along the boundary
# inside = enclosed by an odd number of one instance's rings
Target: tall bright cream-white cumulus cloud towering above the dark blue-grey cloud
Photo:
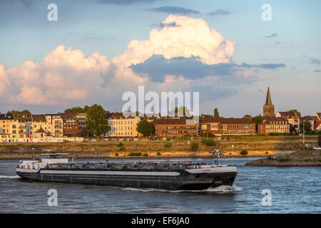
[[[121,56],[113,58],[113,62],[123,66],[143,63],[155,55],[165,58],[198,56],[206,64],[228,63],[234,55],[235,43],[223,38],[214,28],[210,28],[203,19],[188,16],[168,16],[165,26],[152,29],[149,40],[133,40]]]

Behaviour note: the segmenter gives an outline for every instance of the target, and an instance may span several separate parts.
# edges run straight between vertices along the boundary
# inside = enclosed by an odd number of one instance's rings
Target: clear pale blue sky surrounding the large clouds
[[[51,3],[58,6],[58,21],[46,19],[47,6]],[[265,3],[272,6],[272,21],[261,19],[261,6]],[[160,30],[161,21],[171,14],[184,15],[203,19],[225,40],[235,42],[231,64],[284,66],[247,68],[255,75],[255,81],[221,84],[217,91],[224,94],[222,96],[205,89],[201,113],[211,114],[214,108],[218,108],[220,114],[227,117],[241,117],[248,113],[258,115],[263,112],[267,86],[270,86],[276,111],[295,108],[304,115],[314,115],[321,108],[320,9],[320,1],[1,1],[0,64],[9,69],[26,61],[41,63],[60,45],[78,49],[86,56],[98,52],[111,61],[125,53],[131,41],[148,40],[151,30]],[[157,65],[157,61],[154,64]],[[175,63],[168,66],[173,65]],[[199,65],[195,63],[195,66]],[[170,74],[171,69],[168,68],[166,73]],[[175,72],[173,70],[173,74]],[[148,73],[151,76],[151,72]],[[184,79],[190,77],[193,76]],[[200,88],[197,78],[195,76],[194,88]],[[215,97],[210,98],[211,93]],[[0,104],[3,107],[1,112],[29,108],[36,113],[49,113],[86,103],[102,103],[106,110],[120,110],[121,98],[115,96],[113,99],[113,102],[106,102],[84,98],[52,105]]]

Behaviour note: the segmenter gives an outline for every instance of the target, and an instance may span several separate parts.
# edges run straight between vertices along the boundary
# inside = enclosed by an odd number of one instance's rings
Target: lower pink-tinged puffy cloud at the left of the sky
[[[106,56],[86,56],[80,50],[58,46],[41,63],[26,61],[6,70],[11,83],[10,102],[58,105],[83,100],[103,83],[110,66]]]

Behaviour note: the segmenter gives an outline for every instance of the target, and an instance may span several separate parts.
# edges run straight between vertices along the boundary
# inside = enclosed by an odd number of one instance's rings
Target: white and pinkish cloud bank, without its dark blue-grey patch
[[[151,81],[148,76],[140,76],[129,68],[132,64],[143,63],[153,55],[162,55],[166,60],[196,56],[209,65],[230,63],[235,43],[225,40],[203,19],[171,15],[162,23],[175,23],[177,26],[151,30],[149,40],[131,41],[125,53],[111,61],[99,53],[86,56],[81,50],[58,46],[40,63],[26,61],[21,66],[8,69],[0,65],[1,103],[6,102],[13,107],[101,103],[108,105],[106,109],[113,110],[117,105],[118,108],[121,107],[122,93],[137,92],[138,86],[146,86],[146,92],[158,93],[198,90],[212,94],[215,88],[223,91],[216,87],[220,81],[215,77],[210,78],[211,86],[208,86],[208,78],[195,80],[170,72],[161,83]],[[246,71],[235,75],[236,79],[244,77],[251,78],[252,75]],[[203,91],[202,85],[208,88]],[[3,91],[7,92],[6,99]],[[225,96],[230,94],[229,91]],[[211,98],[210,94],[206,96]]]

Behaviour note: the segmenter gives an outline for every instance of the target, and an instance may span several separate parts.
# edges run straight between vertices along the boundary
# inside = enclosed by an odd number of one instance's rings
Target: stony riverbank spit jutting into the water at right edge
[[[254,160],[245,165],[252,166],[321,166],[321,151],[297,151],[291,154],[277,154],[265,159]]]

